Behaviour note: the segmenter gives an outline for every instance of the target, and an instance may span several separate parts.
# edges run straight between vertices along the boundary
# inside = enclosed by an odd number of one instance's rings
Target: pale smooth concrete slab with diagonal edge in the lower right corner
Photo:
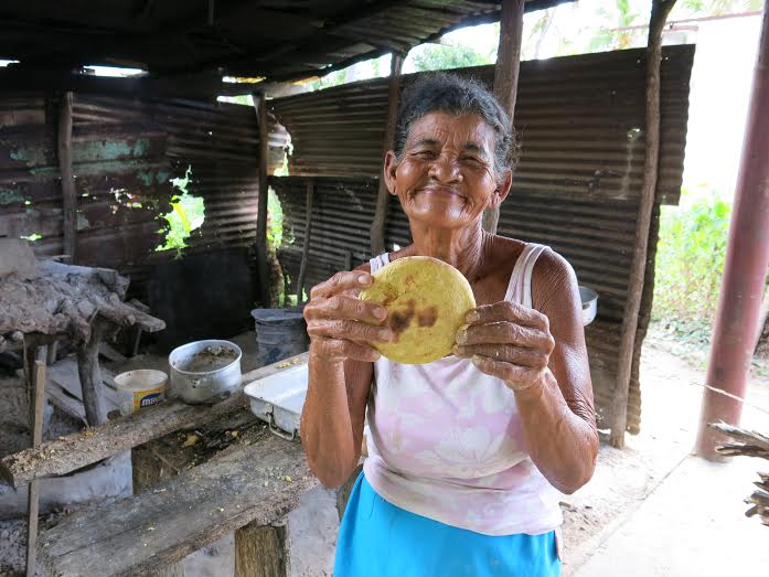
[[[686,458],[575,577],[769,574],[769,527],[743,514],[757,467],[748,458]]]

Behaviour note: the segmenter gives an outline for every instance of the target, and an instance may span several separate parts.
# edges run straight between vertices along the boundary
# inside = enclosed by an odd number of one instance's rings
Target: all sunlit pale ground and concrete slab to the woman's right
[[[743,501],[769,461],[693,457],[702,371],[653,341],[641,371],[641,435],[601,447],[594,480],[564,498],[565,577],[768,575],[769,527]],[[747,399],[743,426],[769,431],[769,380],[755,377]]]

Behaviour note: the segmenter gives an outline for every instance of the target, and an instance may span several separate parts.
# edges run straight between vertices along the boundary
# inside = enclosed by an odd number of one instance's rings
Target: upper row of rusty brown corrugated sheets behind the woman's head
[[[675,204],[680,195],[693,56],[693,46],[664,49],[658,186],[663,203]],[[493,82],[493,66],[453,72]],[[525,190],[637,196],[643,178],[644,75],[643,50],[523,62],[515,109],[523,154],[513,195]],[[404,84],[416,77],[404,76]],[[292,175],[380,175],[386,78],[278,98],[270,106],[291,135]]]

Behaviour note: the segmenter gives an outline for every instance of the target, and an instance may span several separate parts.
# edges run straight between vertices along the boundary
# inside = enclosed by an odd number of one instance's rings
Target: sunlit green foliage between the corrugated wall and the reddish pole
[[[663,206],[654,284],[655,321],[706,339],[718,302],[731,205],[712,190],[682,190]]]

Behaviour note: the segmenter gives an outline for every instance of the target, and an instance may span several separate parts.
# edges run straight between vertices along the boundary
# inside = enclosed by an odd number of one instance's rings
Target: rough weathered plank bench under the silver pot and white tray
[[[243,382],[306,361],[305,354],[275,363],[247,373]],[[200,430],[213,421],[220,428],[232,424],[244,432],[201,464],[174,471],[175,477],[148,485],[139,494],[81,511],[42,533],[38,546],[41,565],[55,576],[159,575],[170,564],[236,531],[238,577],[285,575],[285,531],[271,524],[280,522],[318,481],[307,467],[300,442],[269,434],[248,413],[242,393],[213,407],[173,400],[149,407],[9,456],[0,462],[0,472],[20,487],[133,447],[152,447],[163,435]],[[244,421],[249,423],[244,427]]]

